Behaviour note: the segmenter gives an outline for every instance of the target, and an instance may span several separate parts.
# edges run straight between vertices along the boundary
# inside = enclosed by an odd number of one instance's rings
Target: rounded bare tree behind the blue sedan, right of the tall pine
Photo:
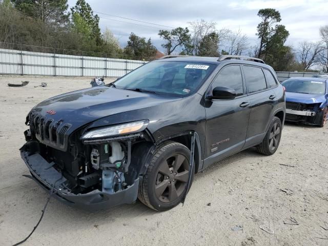
[[[319,54],[322,51],[321,42],[302,41],[296,50],[303,71],[308,71],[319,63]]]

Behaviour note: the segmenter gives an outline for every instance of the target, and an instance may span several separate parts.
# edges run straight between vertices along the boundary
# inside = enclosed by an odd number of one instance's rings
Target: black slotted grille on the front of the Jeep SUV
[[[46,144],[59,149],[65,149],[66,132],[71,124],[64,124],[62,120],[55,121],[39,114],[31,114],[29,118],[30,130],[35,138]]]

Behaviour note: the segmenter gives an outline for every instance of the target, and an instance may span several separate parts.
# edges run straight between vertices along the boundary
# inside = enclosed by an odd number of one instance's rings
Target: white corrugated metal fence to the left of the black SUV
[[[145,63],[147,61],[0,49],[0,74],[121,77]]]

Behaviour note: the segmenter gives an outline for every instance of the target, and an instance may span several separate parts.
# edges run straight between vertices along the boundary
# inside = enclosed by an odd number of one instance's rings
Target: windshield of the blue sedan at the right
[[[290,79],[282,83],[288,92],[299,92],[306,94],[324,94],[325,93],[325,82],[301,80],[301,79]]]

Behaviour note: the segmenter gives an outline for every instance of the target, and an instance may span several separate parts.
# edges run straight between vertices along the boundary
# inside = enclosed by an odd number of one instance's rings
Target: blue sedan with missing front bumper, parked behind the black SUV
[[[323,127],[328,119],[328,79],[289,78],[286,91],[286,121]]]

